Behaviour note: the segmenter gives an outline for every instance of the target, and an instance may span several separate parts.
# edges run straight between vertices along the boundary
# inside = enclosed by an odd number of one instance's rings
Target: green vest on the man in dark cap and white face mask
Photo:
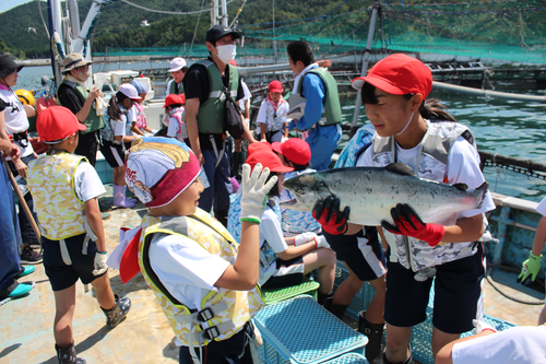
[[[223,133],[224,130],[224,109],[226,104],[226,96],[223,92],[224,84],[222,83],[222,75],[219,74],[216,63],[205,59],[197,64],[203,64],[209,74],[210,94],[209,98],[199,106],[198,111],[198,129],[200,133],[217,134]],[[237,89],[239,87],[239,72],[237,68],[232,64],[229,67],[229,92],[232,97],[237,97]]]

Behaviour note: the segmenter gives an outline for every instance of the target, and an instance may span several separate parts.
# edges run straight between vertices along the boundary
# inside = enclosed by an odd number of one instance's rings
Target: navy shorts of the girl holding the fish
[[[448,333],[473,328],[482,295],[484,246],[471,257],[436,266],[432,325]],[[418,282],[415,272],[399,262],[388,263],[384,320],[397,327],[412,327],[426,320],[432,279]]]

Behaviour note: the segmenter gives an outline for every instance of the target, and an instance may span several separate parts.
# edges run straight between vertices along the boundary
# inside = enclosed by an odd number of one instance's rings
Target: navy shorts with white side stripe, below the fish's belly
[[[376,227],[366,226],[356,235],[322,232],[337,260],[343,261],[360,281],[373,281],[387,273],[387,259]]]

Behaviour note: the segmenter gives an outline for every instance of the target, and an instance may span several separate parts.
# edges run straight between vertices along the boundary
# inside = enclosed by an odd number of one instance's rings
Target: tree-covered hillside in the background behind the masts
[[[80,22],[83,24],[93,0],[78,1]],[[209,1],[200,0],[131,0],[131,2],[154,10],[187,12],[210,7]],[[271,23],[273,9],[271,0],[248,0],[239,16],[239,25]],[[358,0],[328,1],[328,0],[292,0],[275,1],[275,21],[298,20],[320,16],[330,13],[337,5],[336,13],[352,11],[371,4]],[[229,22],[235,17],[241,0],[235,0],[227,5]],[[64,11],[64,2],[61,3]],[[13,8],[0,14],[0,38],[5,43],[5,49],[15,56],[24,58],[49,57],[49,40],[41,22],[39,8],[44,21],[48,22],[47,3],[34,0]],[[140,26],[147,20],[150,26]],[[106,47],[164,47],[191,43],[195,32],[195,44],[203,44],[205,32],[211,26],[210,12],[201,15],[171,15],[142,10],[122,1],[114,1],[104,7],[92,36],[92,50],[105,51]],[[28,28],[31,28],[28,31]],[[36,30],[34,32],[33,30]],[[2,50],[0,42],[0,50]]]

